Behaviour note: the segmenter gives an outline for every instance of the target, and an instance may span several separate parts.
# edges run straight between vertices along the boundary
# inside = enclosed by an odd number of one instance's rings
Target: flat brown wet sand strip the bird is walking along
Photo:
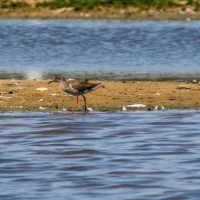
[[[76,97],[63,92],[49,80],[0,80],[0,111],[70,111]],[[85,94],[87,107],[93,110],[122,110],[122,106],[144,104],[127,110],[199,109],[200,85],[185,82],[91,81],[104,86]],[[37,88],[46,88],[40,91]],[[77,110],[84,111],[79,97]]]

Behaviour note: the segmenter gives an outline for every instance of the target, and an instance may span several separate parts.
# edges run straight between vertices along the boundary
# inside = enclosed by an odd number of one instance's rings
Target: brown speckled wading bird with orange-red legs
[[[74,104],[72,113],[74,113],[76,106],[78,105],[78,96],[80,95],[82,95],[84,99],[85,112],[88,112],[87,106],[86,106],[86,98],[83,94],[96,90],[97,88],[102,86],[101,83],[89,83],[88,80],[86,79],[82,81],[68,80],[68,79],[65,79],[62,75],[56,75],[52,81],[48,82],[48,84],[52,82],[59,82],[60,87],[63,91],[76,96],[76,103]]]

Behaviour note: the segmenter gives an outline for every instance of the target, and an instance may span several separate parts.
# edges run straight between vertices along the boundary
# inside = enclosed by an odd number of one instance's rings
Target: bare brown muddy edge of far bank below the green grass
[[[200,20],[200,12],[193,9],[174,8],[167,11],[150,9],[141,11],[138,8],[95,8],[76,11],[73,8],[7,8],[0,9],[0,19],[120,19],[120,20]]]

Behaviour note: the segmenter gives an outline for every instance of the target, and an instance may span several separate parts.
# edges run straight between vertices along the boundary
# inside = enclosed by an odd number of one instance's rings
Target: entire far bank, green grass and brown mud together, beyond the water
[[[0,0],[0,18],[200,20],[200,0]]]

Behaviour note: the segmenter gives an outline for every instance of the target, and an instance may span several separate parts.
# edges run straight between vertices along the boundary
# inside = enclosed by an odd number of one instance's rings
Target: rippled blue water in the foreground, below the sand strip
[[[0,199],[199,199],[200,111],[0,114]]]

